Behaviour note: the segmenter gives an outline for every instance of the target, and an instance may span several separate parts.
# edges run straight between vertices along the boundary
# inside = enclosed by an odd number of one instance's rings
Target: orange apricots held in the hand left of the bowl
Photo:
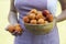
[[[16,24],[16,25],[9,25],[8,29],[7,29],[9,32],[13,33],[13,32],[18,32],[19,34],[22,33],[22,29],[20,26],[20,24]]]

